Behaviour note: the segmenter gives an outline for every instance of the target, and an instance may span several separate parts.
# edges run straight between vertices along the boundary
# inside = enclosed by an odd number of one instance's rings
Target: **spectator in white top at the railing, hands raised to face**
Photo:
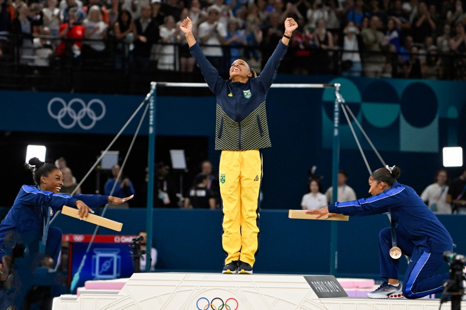
[[[361,76],[361,56],[359,54],[359,29],[354,22],[348,22],[343,30],[342,71],[345,76]]]

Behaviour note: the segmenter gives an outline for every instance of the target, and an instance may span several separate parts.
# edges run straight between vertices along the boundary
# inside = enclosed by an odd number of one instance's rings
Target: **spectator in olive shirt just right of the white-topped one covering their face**
[[[381,54],[385,36],[378,29],[380,19],[377,16],[370,18],[370,27],[361,32],[364,43],[363,67],[364,74],[370,78],[380,76],[385,57]]]

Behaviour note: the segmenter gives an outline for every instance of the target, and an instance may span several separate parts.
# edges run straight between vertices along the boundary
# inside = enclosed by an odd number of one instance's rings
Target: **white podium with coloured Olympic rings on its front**
[[[118,294],[109,293],[63,295],[54,299],[52,310],[439,309],[438,299],[347,297],[333,276],[139,273]],[[441,308],[449,309],[449,302]]]

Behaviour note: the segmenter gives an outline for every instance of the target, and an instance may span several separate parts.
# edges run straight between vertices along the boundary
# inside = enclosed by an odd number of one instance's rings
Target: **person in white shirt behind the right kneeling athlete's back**
[[[422,192],[421,198],[434,213],[451,214],[451,206],[447,202],[447,170],[439,169],[435,173],[435,183],[426,187]]]

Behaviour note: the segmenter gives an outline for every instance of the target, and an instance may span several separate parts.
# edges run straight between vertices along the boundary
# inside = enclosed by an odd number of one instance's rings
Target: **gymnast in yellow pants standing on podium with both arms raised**
[[[293,18],[286,18],[284,26],[283,37],[260,76],[244,60],[237,59],[230,67],[230,79],[225,81],[196,42],[192,20],[186,17],[180,24],[191,55],[216,96],[215,149],[222,151],[219,167],[222,245],[227,255],[222,273],[252,274],[259,247],[260,150],[271,146],[266,94],[298,24]]]

